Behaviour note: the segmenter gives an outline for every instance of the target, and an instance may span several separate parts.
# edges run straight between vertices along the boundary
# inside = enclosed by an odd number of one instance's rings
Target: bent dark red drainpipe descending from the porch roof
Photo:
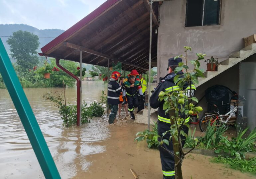
[[[59,58],[55,58],[56,59],[56,65],[62,69],[64,72],[66,72],[68,75],[70,75],[73,79],[76,80],[76,104],[77,104],[77,121],[76,121],[76,125],[79,126],[80,125],[80,80],[78,77],[76,77],[74,74],[72,74],[71,72],[69,72],[67,69],[65,69],[63,66],[60,65],[60,59]]]

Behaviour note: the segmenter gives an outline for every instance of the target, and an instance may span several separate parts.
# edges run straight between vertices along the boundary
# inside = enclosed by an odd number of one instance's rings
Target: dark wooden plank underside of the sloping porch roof
[[[66,38],[65,42],[97,52],[97,54],[82,52],[83,63],[107,66],[106,57],[111,56],[115,60],[119,59],[129,64],[122,64],[127,70],[136,66],[136,69],[142,68],[141,71],[145,71],[148,69],[146,60],[149,56],[149,21],[150,13],[145,6],[145,0],[122,0],[90,25]],[[152,59],[157,56],[155,28],[156,25],[153,24]],[[79,61],[79,50],[64,44],[66,43],[55,48],[47,56]],[[100,57],[98,54],[104,56]]]

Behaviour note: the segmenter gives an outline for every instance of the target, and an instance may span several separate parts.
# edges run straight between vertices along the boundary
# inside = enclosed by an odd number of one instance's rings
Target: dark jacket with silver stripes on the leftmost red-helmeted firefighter
[[[113,78],[108,83],[108,104],[119,104],[119,94],[122,92],[122,88],[117,81]]]

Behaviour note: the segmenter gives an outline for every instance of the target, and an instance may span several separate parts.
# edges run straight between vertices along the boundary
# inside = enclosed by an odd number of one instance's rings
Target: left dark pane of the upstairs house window
[[[187,0],[186,27],[202,25],[203,0]]]

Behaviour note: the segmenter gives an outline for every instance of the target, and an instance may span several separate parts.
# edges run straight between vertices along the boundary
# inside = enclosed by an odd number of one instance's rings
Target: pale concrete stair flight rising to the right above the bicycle
[[[220,62],[220,64],[218,65],[218,71],[205,72],[204,78],[198,78],[199,83],[198,83],[198,85],[196,85],[196,87],[199,87],[200,85],[204,84],[205,82],[216,77],[220,73],[224,72],[225,70],[229,69],[230,67],[243,61],[244,59],[248,58],[249,56],[251,56],[255,53],[256,53],[256,43],[253,43],[253,44],[248,45],[247,47],[241,49],[240,51],[234,53],[233,55],[230,55],[228,59]]]

